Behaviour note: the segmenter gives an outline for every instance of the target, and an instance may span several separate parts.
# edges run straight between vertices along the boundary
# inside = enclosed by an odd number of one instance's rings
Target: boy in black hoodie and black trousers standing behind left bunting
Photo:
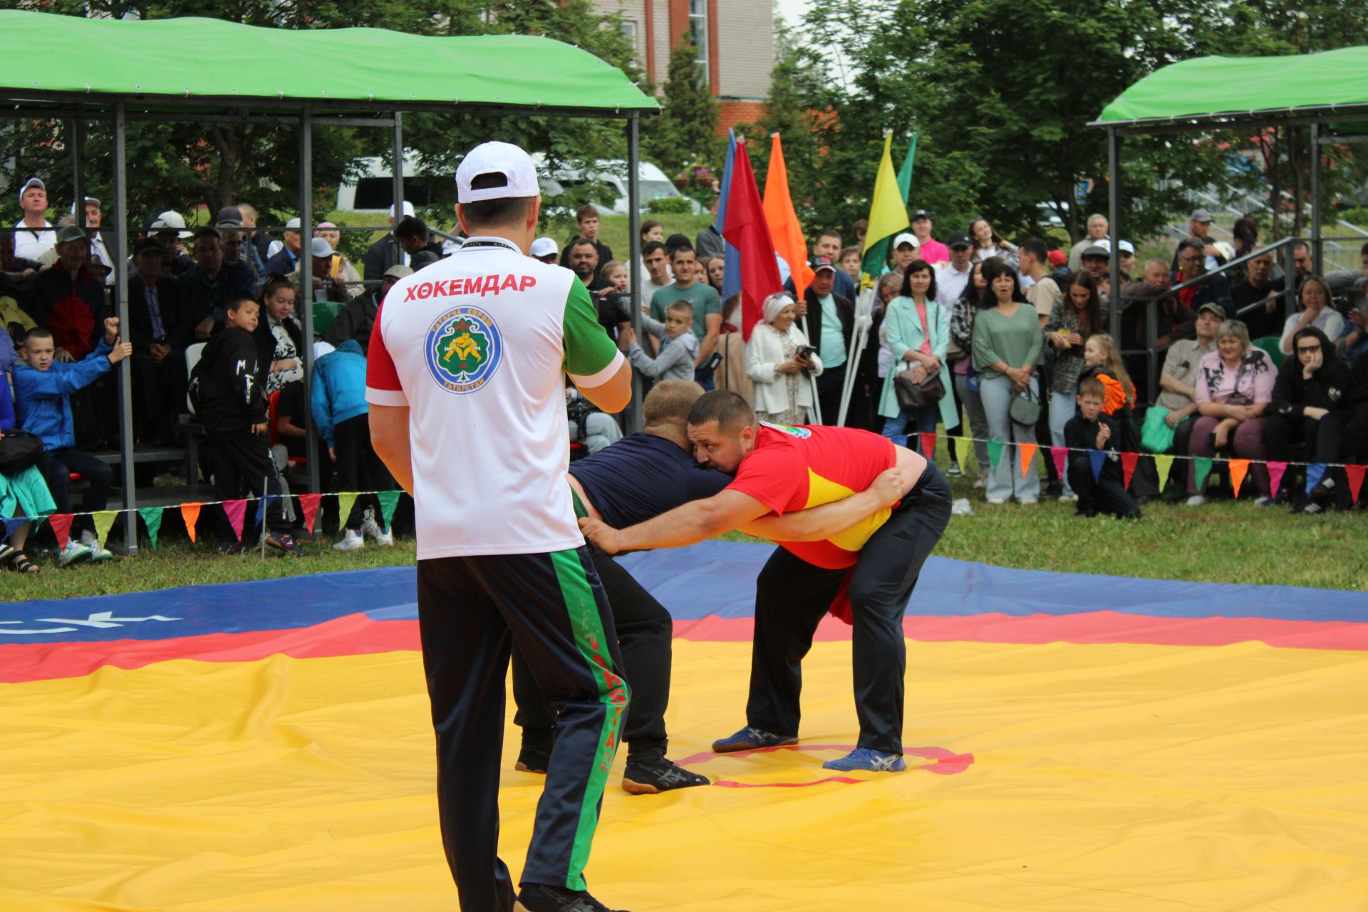
[[[246,485],[252,495],[271,495],[267,510],[272,548],[302,556],[304,550],[290,536],[283,488],[271,459],[265,390],[259,376],[259,346],[253,336],[260,305],[245,294],[224,301],[223,331],[209,338],[190,380],[196,412],[204,423],[209,464],[213,468],[213,496],[234,500]],[[263,484],[265,485],[263,488]],[[242,543],[233,532],[227,513],[219,524],[219,551],[238,554]]]

